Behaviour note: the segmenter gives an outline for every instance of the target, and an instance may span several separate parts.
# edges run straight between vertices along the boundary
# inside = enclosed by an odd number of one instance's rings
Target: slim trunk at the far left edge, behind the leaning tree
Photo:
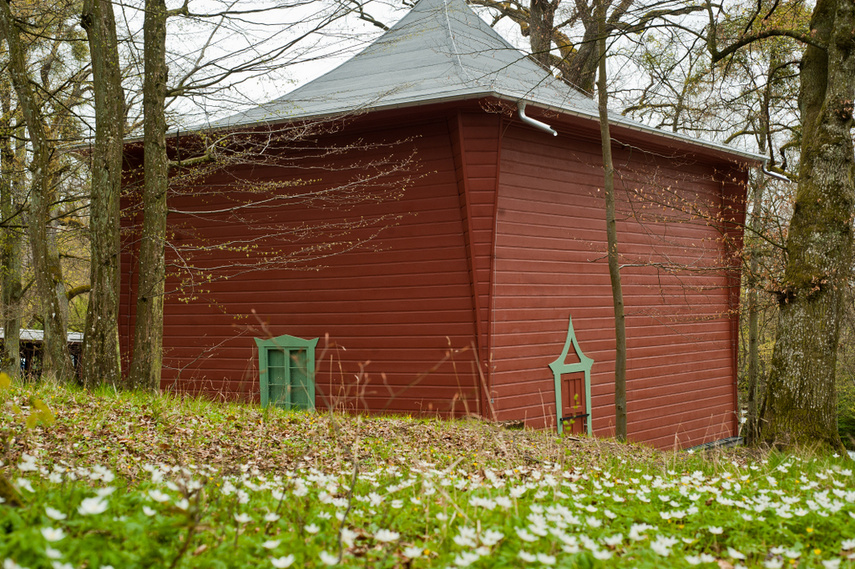
[[[3,125],[0,138],[0,290],[2,290],[3,353],[0,355],[0,371],[17,377],[21,373],[21,287],[23,247],[21,226],[23,215],[20,208],[21,172],[15,164],[13,133],[18,126],[12,120],[11,86],[5,81],[0,92],[3,116],[8,123]]]

